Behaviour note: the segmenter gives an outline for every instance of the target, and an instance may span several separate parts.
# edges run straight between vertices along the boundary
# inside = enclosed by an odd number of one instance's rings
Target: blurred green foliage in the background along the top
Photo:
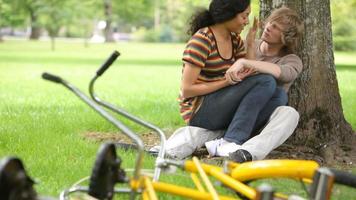
[[[0,0],[0,28],[27,30],[40,27],[56,37],[89,38],[97,23],[105,19],[104,1],[112,7],[114,32],[133,34],[138,41],[182,42],[189,19],[210,0]],[[258,0],[252,0],[252,14],[258,16]],[[356,50],[356,0],[331,0],[336,50]]]

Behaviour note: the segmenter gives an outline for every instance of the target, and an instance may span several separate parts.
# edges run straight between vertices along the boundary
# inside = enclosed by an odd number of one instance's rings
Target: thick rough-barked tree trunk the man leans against
[[[304,68],[289,92],[289,105],[300,113],[300,122],[288,143],[311,148],[326,162],[347,156],[355,135],[346,122],[336,79],[330,0],[260,0],[260,18],[286,5],[305,23],[298,55]],[[337,155],[339,152],[339,155]]]

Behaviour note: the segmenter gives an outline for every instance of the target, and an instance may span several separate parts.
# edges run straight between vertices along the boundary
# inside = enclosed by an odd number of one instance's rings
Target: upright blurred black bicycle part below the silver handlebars
[[[89,180],[89,195],[97,199],[112,199],[116,183],[126,183],[125,171],[120,168],[121,159],[115,145],[101,145]]]

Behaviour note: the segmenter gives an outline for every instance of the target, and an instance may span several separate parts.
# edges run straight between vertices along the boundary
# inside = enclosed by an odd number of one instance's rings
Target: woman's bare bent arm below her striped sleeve
[[[185,63],[181,84],[181,95],[183,98],[209,94],[230,85],[226,79],[207,83],[196,83],[200,71],[200,67]]]

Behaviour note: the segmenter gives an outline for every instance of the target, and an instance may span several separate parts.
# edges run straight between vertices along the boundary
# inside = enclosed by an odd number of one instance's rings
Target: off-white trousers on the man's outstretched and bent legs
[[[251,153],[254,160],[264,159],[273,149],[277,148],[292,135],[299,121],[299,113],[290,106],[279,106],[272,113],[267,125],[260,134],[242,144],[241,149]],[[186,126],[176,130],[166,142],[166,154],[176,159],[190,156],[205,142],[221,138],[224,131]],[[157,151],[159,147],[153,147]]]

